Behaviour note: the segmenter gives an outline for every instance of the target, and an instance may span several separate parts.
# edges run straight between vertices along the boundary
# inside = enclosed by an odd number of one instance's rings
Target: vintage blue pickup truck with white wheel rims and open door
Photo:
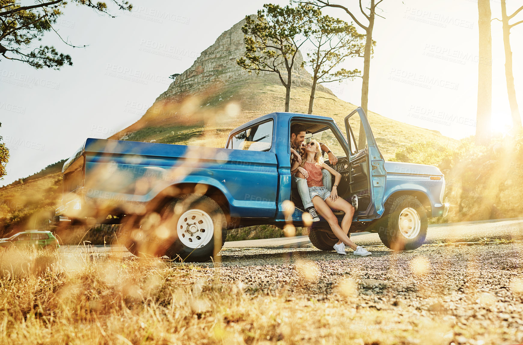
[[[87,139],[63,166],[62,206],[50,225],[122,224],[118,241],[133,254],[190,261],[217,254],[228,229],[263,224],[308,226],[315,247],[333,250],[327,222],[302,217],[290,175],[294,123],[338,157],[338,194],[356,208],[350,232],[415,249],[427,218],[446,215],[441,171],[385,162],[358,108],[345,118],[345,133],[332,118],[270,113],[234,129],[225,148]]]

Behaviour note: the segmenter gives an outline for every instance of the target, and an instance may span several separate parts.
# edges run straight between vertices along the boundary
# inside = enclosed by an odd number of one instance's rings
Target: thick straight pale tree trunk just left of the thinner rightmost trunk
[[[476,145],[490,143],[492,116],[492,33],[490,0],[477,0],[479,63],[477,64]]]

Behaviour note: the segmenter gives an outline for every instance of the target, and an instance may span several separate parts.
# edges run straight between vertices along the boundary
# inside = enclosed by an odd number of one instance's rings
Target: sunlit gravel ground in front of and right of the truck
[[[427,244],[404,252],[384,246],[367,249],[372,256],[366,258],[354,257],[350,249],[346,257],[313,247],[224,249],[215,266],[173,265],[186,266],[190,272],[180,277],[181,285],[215,282],[219,277],[221,283],[236,284],[253,296],[345,300],[349,303],[340,306],[355,312],[380,311],[393,315],[391,320],[444,320],[450,325],[444,335],[449,344],[523,342],[523,241]],[[386,327],[401,328],[401,322]],[[374,326],[349,327],[361,331]]]

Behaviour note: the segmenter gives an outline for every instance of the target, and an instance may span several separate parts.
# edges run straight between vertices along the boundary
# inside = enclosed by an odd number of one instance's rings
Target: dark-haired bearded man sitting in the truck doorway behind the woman
[[[298,160],[298,162],[301,162],[301,155],[300,155],[300,146],[305,141],[305,133],[307,129],[304,125],[299,123],[294,123],[291,125],[291,134],[290,134],[290,143],[291,143],[291,166],[294,160]],[[328,160],[331,162],[331,164],[338,163],[338,158],[331,152],[331,150],[328,148],[327,145],[320,143],[320,148],[323,152],[327,153]],[[303,169],[302,167],[298,167],[294,170],[291,170],[291,175],[294,175],[296,172],[300,171],[304,176],[305,179],[294,177],[294,180],[296,181],[296,184],[298,185],[298,192],[300,193],[301,200],[303,202],[303,207],[312,217],[313,222],[319,222],[320,217],[318,217],[318,214],[316,212],[316,209],[314,208],[314,204],[311,201],[311,195],[309,194],[309,187],[307,186],[307,180],[306,178],[309,176],[309,173]],[[327,188],[327,190],[332,189],[332,178],[331,173],[328,172],[326,169],[322,170],[323,174],[323,186]]]

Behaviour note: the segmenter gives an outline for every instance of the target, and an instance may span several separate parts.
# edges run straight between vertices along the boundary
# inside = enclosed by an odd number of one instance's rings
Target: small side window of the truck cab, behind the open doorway
[[[269,151],[272,143],[272,120],[234,134],[227,148]]]

